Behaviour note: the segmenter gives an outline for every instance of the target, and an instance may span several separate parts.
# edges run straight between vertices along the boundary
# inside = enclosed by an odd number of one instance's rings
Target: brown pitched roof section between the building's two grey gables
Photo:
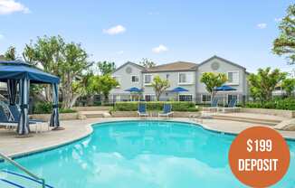
[[[158,65],[146,69],[145,72],[157,72],[157,71],[194,71],[197,64],[194,62],[176,61],[167,64]]]

